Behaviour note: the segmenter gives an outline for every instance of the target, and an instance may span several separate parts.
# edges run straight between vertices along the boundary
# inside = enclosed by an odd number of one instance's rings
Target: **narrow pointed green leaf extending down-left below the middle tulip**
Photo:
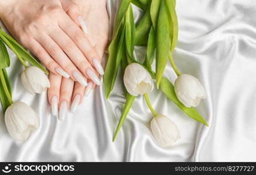
[[[129,113],[130,108],[132,107],[132,103],[134,103],[135,98],[136,98],[135,96],[131,96],[131,95],[129,95],[129,93],[127,93],[125,105],[124,105],[124,108],[122,109],[122,115],[118,122],[117,129],[115,129],[115,134],[113,136],[113,142],[115,141],[115,138],[117,137],[117,134],[120,131],[122,124],[124,123],[124,120],[127,117],[127,114]]]

